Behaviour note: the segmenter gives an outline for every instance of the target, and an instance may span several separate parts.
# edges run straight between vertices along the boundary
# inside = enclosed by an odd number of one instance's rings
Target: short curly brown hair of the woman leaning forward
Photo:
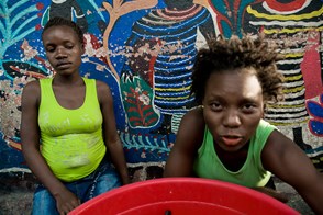
[[[202,104],[205,84],[212,72],[227,72],[252,68],[263,88],[265,102],[282,100],[283,76],[278,72],[276,61],[282,59],[277,46],[259,34],[243,38],[219,35],[208,42],[207,48],[199,50],[192,71],[191,93],[198,104]],[[243,70],[242,70],[243,71]]]

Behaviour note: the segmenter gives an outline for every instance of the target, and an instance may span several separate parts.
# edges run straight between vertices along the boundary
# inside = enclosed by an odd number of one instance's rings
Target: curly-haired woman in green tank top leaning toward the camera
[[[267,191],[261,188],[272,173],[323,214],[322,173],[263,120],[266,104],[282,98],[279,59],[263,35],[219,36],[199,50],[191,92],[200,106],[181,120],[165,177],[210,178]]]

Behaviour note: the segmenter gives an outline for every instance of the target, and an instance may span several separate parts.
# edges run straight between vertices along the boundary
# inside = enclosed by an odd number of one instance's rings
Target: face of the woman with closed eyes
[[[47,59],[57,75],[78,72],[85,50],[71,27],[60,25],[47,29],[43,34],[43,44]]]

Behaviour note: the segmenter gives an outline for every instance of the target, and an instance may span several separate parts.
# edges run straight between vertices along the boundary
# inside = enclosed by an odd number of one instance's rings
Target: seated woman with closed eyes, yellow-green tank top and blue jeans
[[[67,214],[130,179],[110,89],[79,75],[80,27],[53,18],[42,39],[55,75],[23,90],[22,151],[40,181],[32,214]]]

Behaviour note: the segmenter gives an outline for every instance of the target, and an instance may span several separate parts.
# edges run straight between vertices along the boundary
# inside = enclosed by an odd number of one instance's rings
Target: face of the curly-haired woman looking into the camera
[[[263,90],[253,69],[212,73],[202,104],[214,144],[226,151],[246,145],[264,114]]]

